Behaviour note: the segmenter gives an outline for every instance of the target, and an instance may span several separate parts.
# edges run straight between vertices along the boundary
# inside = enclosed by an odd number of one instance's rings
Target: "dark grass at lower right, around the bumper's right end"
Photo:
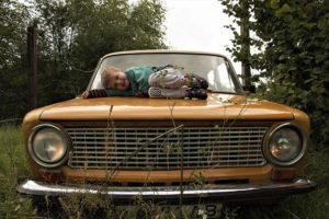
[[[239,209],[239,218],[248,219],[329,219],[329,150],[310,149],[304,177],[317,182],[316,191],[286,197],[275,206]]]

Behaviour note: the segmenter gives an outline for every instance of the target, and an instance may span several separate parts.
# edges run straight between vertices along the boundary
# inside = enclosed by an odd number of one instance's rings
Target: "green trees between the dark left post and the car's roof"
[[[46,37],[39,68],[45,81],[58,81],[44,104],[81,93],[99,58],[104,54],[143,48],[163,48],[163,9],[157,0],[129,4],[127,0],[36,0],[39,28]],[[52,87],[44,83],[39,88]],[[65,93],[66,92],[66,93]],[[56,96],[53,97],[53,96]]]

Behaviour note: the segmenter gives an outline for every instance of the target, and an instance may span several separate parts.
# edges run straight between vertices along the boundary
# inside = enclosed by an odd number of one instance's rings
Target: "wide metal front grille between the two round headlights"
[[[69,166],[178,170],[262,166],[266,127],[67,128]]]

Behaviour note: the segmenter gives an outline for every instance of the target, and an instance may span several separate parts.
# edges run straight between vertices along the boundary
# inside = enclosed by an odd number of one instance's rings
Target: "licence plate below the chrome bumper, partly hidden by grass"
[[[222,204],[183,205],[143,205],[143,206],[116,206],[116,215],[120,218],[191,218],[215,219],[222,214]]]

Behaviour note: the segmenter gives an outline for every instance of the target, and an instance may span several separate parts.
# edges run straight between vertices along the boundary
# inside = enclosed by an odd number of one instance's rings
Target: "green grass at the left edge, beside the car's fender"
[[[15,191],[29,174],[22,139],[19,127],[0,126],[0,218],[35,217],[31,200]]]

